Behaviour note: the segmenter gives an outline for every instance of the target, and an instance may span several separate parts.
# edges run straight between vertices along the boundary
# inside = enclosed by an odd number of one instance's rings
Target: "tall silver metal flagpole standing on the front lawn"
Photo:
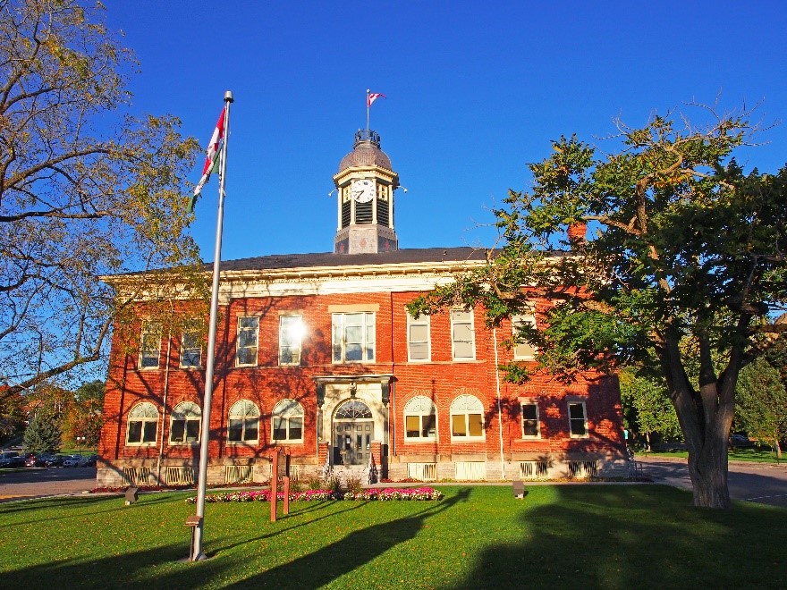
[[[197,518],[191,537],[190,561],[207,559],[202,551],[202,534],[205,527],[205,491],[207,488],[207,453],[210,443],[210,407],[213,401],[213,374],[216,365],[216,316],[218,316],[218,282],[221,271],[221,240],[224,225],[224,182],[227,170],[227,143],[230,135],[230,105],[234,102],[230,90],[224,92],[224,144],[218,187],[218,215],[216,216],[216,250],[213,255],[213,287],[210,291],[210,324],[207,332],[207,365],[205,367],[205,398],[202,400],[202,436],[199,445],[199,475],[197,476]]]

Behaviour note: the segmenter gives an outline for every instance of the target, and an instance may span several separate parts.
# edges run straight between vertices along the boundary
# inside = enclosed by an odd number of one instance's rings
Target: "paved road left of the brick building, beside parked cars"
[[[0,502],[82,493],[96,487],[96,468],[25,468],[0,473]]]

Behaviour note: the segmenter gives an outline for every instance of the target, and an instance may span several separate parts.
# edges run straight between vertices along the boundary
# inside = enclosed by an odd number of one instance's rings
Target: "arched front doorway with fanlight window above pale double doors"
[[[375,439],[375,421],[360,400],[347,400],[334,414],[334,464],[366,465]]]

